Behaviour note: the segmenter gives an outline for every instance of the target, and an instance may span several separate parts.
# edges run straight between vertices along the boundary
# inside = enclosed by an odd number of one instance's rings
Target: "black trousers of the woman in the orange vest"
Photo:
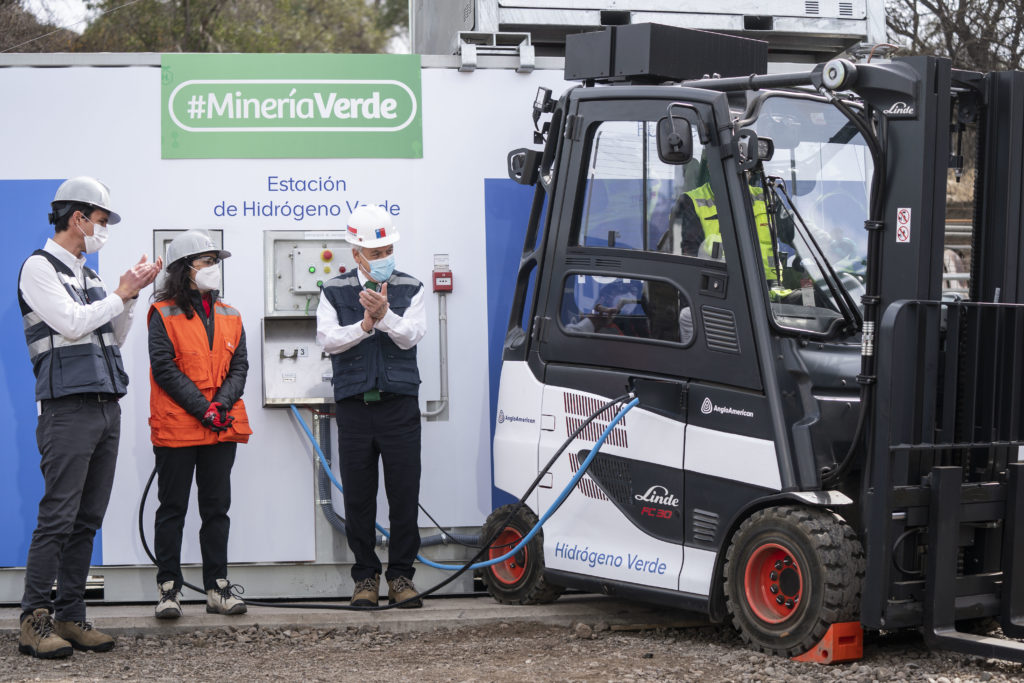
[[[203,588],[217,588],[218,579],[227,579],[227,531],[231,507],[231,466],[234,464],[232,441],[184,447],[153,446],[157,456],[157,508],[154,553],[157,556],[157,583],[173,581],[181,587],[181,531],[188,512],[193,473],[199,498],[199,530],[203,554]]]

